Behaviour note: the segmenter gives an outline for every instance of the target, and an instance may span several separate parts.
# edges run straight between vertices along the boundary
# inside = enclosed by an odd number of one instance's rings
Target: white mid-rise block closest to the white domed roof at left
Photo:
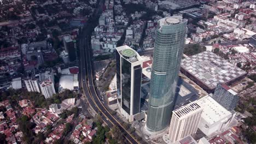
[[[53,94],[56,94],[54,83],[49,79],[40,82],[40,88],[45,99],[48,99],[52,97]]]

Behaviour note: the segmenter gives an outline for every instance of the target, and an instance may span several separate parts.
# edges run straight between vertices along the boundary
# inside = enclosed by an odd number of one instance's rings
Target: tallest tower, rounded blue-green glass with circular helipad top
[[[181,16],[158,21],[150,80],[148,131],[165,130],[170,123],[186,30],[187,20]]]

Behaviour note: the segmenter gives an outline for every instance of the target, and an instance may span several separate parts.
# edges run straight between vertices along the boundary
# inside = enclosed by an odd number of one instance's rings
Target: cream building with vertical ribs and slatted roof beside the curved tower
[[[168,139],[163,139],[166,143],[173,143],[186,136],[196,133],[199,125],[203,108],[195,103],[190,103],[177,110],[172,111],[172,120]]]

